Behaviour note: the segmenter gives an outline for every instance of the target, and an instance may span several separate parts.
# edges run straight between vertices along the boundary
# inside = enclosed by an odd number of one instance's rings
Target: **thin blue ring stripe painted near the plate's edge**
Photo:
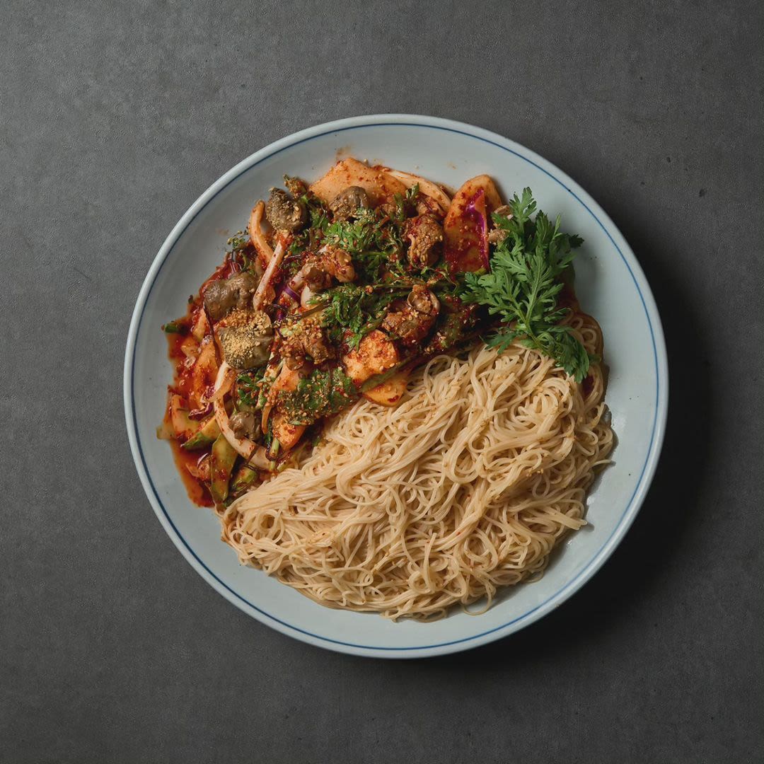
[[[542,173],[544,173],[545,175],[547,175],[550,178],[552,178],[552,180],[554,180],[555,183],[558,183],[558,185],[562,186],[592,216],[592,218],[594,218],[594,220],[597,222],[597,225],[599,225],[600,228],[602,228],[602,230],[604,231],[605,235],[610,240],[610,243],[613,244],[613,247],[616,249],[617,253],[620,255],[620,258],[623,261],[623,264],[626,265],[626,269],[629,271],[629,274],[630,274],[630,276],[631,276],[631,278],[633,280],[634,286],[636,287],[636,291],[639,294],[639,299],[641,300],[643,309],[645,311],[645,317],[647,319],[647,325],[648,325],[649,330],[650,330],[650,341],[652,342],[652,357],[653,357],[653,361],[655,363],[655,372],[656,372],[655,410],[654,410],[653,415],[652,415],[652,432],[650,433],[650,442],[649,442],[649,445],[648,445],[647,451],[646,451],[645,463],[643,464],[642,470],[639,473],[639,478],[636,481],[636,487],[634,488],[633,493],[631,494],[631,497],[630,497],[629,501],[626,502],[626,508],[623,510],[623,513],[621,513],[618,525],[613,530],[613,533],[611,533],[610,536],[607,537],[605,542],[601,545],[600,549],[598,549],[597,552],[594,555],[592,555],[591,561],[588,563],[588,565],[586,565],[586,567],[583,568],[583,570],[581,570],[578,573],[578,575],[575,576],[575,578],[573,578],[571,581],[568,581],[568,583],[565,584],[565,586],[563,586],[561,589],[556,591],[555,594],[552,594],[552,596],[547,597],[547,599],[545,599],[545,601],[543,601],[542,603],[536,605],[536,607],[532,607],[530,610],[526,610],[526,612],[523,613],[523,615],[518,616],[516,618],[513,618],[513,620],[507,621],[507,623],[503,623],[501,626],[495,626],[493,629],[489,629],[487,631],[484,631],[484,632],[481,632],[481,633],[478,633],[478,634],[473,634],[472,636],[465,636],[465,637],[462,637],[461,639],[452,639],[450,642],[440,642],[440,643],[435,643],[433,645],[416,645],[416,646],[405,646],[405,647],[390,647],[390,646],[374,646],[374,645],[363,645],[363,644],[352,643],[352,642],[343,642],[340,639],[332,639],[331,637],[328,637],[328,636],[322,636],[321,634],[316,634],[316,633],[314,633],[312,631],[301,629],[301,628],[299,628],[299,626],[293,626],[293,624],[287,623],[286,621],[281,620],[280,618],[277,618],[277,617],[271,615],[270,613],[267,613],[265,610],[262,610],[260,607],[257,607],[257,605],[251,603],[250,601],[248,601],[247,599],[242,597],[241,594],[239,594],[237,591],[235,591],[230,586],[228,586],[228,584],[226,584],[225,581],[222,581],[222,579],[219,578],[219,576],[216,575],[208,567],[208,565],[206,565],[206,563],[202,560],[202,558],[200,558],[199,555],[196,554],[196,552],[193,550],[191,545],[189,545],[189,542],[186,541],[186,539],[183,537],[183,535],[177,529],[177,526],[175,525],[175,523],[173,523],[173,520],[170,517],[170,514],[167,512],[167,509],[164,507],[164,504],[162,503],[162,500],[160,499],[159,492],[157,491],[157,488],[154,485],[154,481],[151,479],[151,472],[149,471],[149,468],[148,468],[148,465],[147,465],[147,461],[146,461],[146,458],[144,456],[143,448],[141,447],[141,435],[140,435],[140,432],[138,431],[138,416],[135,413],[135,410],[136,410],[135,409],[135,378],[134,378],[134,375],[135,375],[135,354],[136,354],[136,347],[138,345],[138,342],[137,342],[138,341],[138,334],[141,331],[141,322],[143,321],[143,316],[144,316],[144,312],[145,312],[145,309],[146,309],[146,304],[148,303],[149,296],[151,295],[151,290],[154,288],[154,283],[156,283],[156,281],[157,281],[157,277],[159,276],[160,270],[162,270],[163,265],[165,264],[165,262],[167,262],[167,258],[170,257],[170,253],[173,251],[173,248],[175,247],[177,242],[180,240],[180,238],[183,236],[183,234],[185,233],[186,229],[189,228],[189,225],[191,225],[194,222],[194,220],[196,220],[196,218],[198,217],[199,213],[202,212],[202,210],[205,209],[206,206],[209,205],[210,202],[212,202],[212,199],[215,199],[215,197],[218,196],[219,193],[221,193],[224,189],[228,188],[228,186],[230,186],[231,183],[233,183],[235,180],[238,180],[238,178],[241,177],[241,175],[246,173],[252,167],[256,167],[261,162],[264,162],[265,160],[270,159],[270,157],[275,157],[277,154],[280,154],[280,152],[286,151],[286,149],[290,149],[290,148],[293,148],[295,146],[298,146],[299,144],[306,143],[307,141],[313,141],[316,138],[322,138],[324,135],[344,132],[344,131],[348,131],[348,130],[361,130],[363,128],[370,128],[370,127],[371,128],[378,128],[378,127],[406,127],[406,128],[411,128],[411,127],[416,127],[416,128],[425,128],[427,130],[442,130],[442,131],[447,131],[447,132],[456,133],[456,134],[460,134],[460,135],[465,135],[468,138],[473,138],[474,140],[477,140],[477,141],[483,141],[484,143],[487,143],[487,144],[490,144],[490,145],[495,146],[497,148],[500,148],[502,151],[508,151],[508,152],[510,152],[510,154],[514,154],[516,157],[519,157],[524,162],[527,162],[527,163],[533,165],[533,167],[536,167],[537,170],[541,170]],[[180,541],[183,542],[183,545],[186,547],[188,552],[191,555],[193,555],[193,557],[196,559],[196,561],[199,562],[199,565],[201,565],[202,568],[204,568],[209,573],[209,575],[212,576],[212,578],[215,579],[215,581],[218,581],[218,583],[223,588],[225,588],[227,591],[229,591],[238,600],[241,600],[241,602],[246,604],[248,607],[251,607],[253,610],[257,610],[257,612],[261,613],[261,615],[267,617],[268,619],[274,621],[275,623],[279,623],[281,626],[286,626],[286,628],[288,628],[290,630],[293,630],[293,631],[305,634],[306,636],[310,636],[313,639],[318,639],[318,640],[320,640],[322,642],[328,642],[328,643],[332,643],[332,644],[335,644],[335,645],[342,645],[342,646],[345,646],[345,647],[352,647],[354,649],[368,650],[368,651],[379,650],[379,651],[390,651],[390,652],[396,652],[396,651],[406,652],[406,651],[416,651],[416,650],[432,650],[432,649],[436,649],[436,648],[439,648],[439,647],[447,647],[447,646],[450,646],[450,645],[456,645],[456,644],[460,644],[460,643],[471,642],[474,639],[480,639],[481,637],[487,636],[488,634],[492,634],[492,633],[495,633],[497,631],[506,629],[507,626],[511,626],[511,625],[513,625],[513,623],[517,623],[520,620],[526,619],[531,614],[535,613],[537,610],[539,610],[540,608],[544,607],[550,601],[557,599],[561,594],[563,594],[569,588],[574,586],[581,579],[582,576],[586,575],[586,573],[590,570],[591,566],[594,565],[594,562],[597,561],[597,558],[601,554],[602,550],[610,543],[610,539],[612,539],[613,536],[620,531],[620,529],[621,529],[620,522],[623,520],[623,517],[626,515],[626,513],[628,513],[628,511],[630,510],[631,505],[633,503],[633,500],[634,500],[634,497],[636,496],[637,491],[639,490],[640,487],[642,487],[642,478],[643,478],[643,476],[645,474],[645,470],[647,468],[647,465],[648,465],[649,459],[650,459],[650,455],[652,453],[652,447],[653,447],[653,445],[655,443],[656,424],[657,424],[657,419],[658,419],[659,397],[660,397],[660,369],[659,369],[659,364],[658,364],[658,350],[656,348],[655,334],[653,332],[652,322],[650,321],[650,314],[649,314],[649,310],[647,309],[647,305],[645,303],[645,298],[643,296],[642,290],[639,289],[639,283],[637,282],[636,277],[634,276],[634,273],[633,273],[633,270],[631,269],[629,261],[627,261],[626,257],[623,256],[623,252],[620,251],[620,247],[613,240],[613,237],[610,235],[610,231],[608,231],[607,228],[605,228],[605,226],[603,225],[601,220],[599,218],[597,218],[597,215],[595,215],[594,212],[592,212],[592,210],[589,208],[589,206],[586,204],[586,202],[584,202],[574,191],[572,191],[570,188],[568,188],[568,186],[565,186],[565,183],[562,183],[562,180],[560,180],[558,177],[552,175],[552,173],[550,173],[549,170],[546,170],[544,167],[541,167],[538,163],[534,162],[532,159],[529,159],[528,157],[523,156],[523,154],[520,154],[519,152],[514,151],[510,147],[503,146],[502,144],[499,144],[496,141],[491,141],[489,138],[484,138],[483,136],[475,135],[475,134],[472,134],[472,133],[469,133],[469,132],[463,131],[463,130],[457,130],[455,128],[448,128],[448,127],[445,127],[444,125],[422,125],[422,124],[420,124],[418,122],[402,122],[402,121],[398,121],[398,122],[370,122],[370,123],[367,123],[365,125],[364,124],[361,124],[361,125],[349,125],[348,127],[332,128],[332,129],[326,130],[326,131],[324,131],[322,133],[313,134],[313,135],[310,135],[307,138],[302,138],[299,141],[294,141],[293,143],[290,143],[290,144],[288,144],[286,146],[280,147],[280,148],[276,149],[275,151],[272,151],[270,154],[267,154],[267,156],[261,157],[259,160],[248,164],[246,167],[242,167],[242,169],[235,176],[230,178],[228,180],[228,182],[225,183],[225,186],[222,186],[221,188],[219,188],[209,199],[206,200],[206,202],[193,215],[193,218],[191,218],[186,223],[186,225],[183,226],[183,229],[177,233],[177,235],[175,237],[175,241],[173,241],[172,246],[170,246],[170,249],[168,249],[167,252],[165,253],[165,255],[163,257],[163,260],[160,263],[160,266],[157,268],[157,272],[154,274],[154,280],[152,280],[151,286],[149,287],[149,290],[146,293],[146,297],[144,299],[144,304],[143,304],[143,307],[141,309],[141,315],[138,317],[138,324],[136,325],[134,337],[135,337],[135,342],[134,342],[134,345],[133,345],[133,354],[132,354],[132,359],[131,359],[131,390],[130,390],[130,393],[131,393],[131,408],[132,408],[133,426],[134,426],[134,431],[135,431],[135,440],[136,440],[136,443],[138,445],[138,453],[141,456],[141,463],[144,466],[144,471],[146,473],[147,480],[149,481],[149,484],[151,484],[151,489],[154,491],[154,497],[156,498],[157,503],[159,504],[159,506],[162,509],[163,515],[167,519],[167,522],[170,523],[170,526],[173,528],[173,531],[176,533],[176,536],[178,537],[178,539],[180,539]]]

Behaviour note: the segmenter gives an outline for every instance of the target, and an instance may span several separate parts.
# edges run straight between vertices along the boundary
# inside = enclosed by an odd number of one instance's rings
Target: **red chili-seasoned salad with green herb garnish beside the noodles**
[[[283,183],[163,326],[175,377],[157,434],[196,503],[227,506],[296,465],[329,417],[361,397],[396,406],[417,367],[478,342],[536,349],[586,387],[597,357],[568,325],[581,239],[530,189],[504,204],[480,175],[452,198],[355,159]]]

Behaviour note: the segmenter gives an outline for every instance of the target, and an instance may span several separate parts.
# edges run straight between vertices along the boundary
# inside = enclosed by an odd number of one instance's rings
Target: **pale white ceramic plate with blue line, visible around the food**
[[[329,610],[261,571],[238,564],[220,541],[213,513],[194,507],[156,427],[172,379],[160,325],[222,260],[225,236],[246,224],[255,199],[285,173],[312,180],[339,155],[386,163],[445,183],[489,173],[503,194],[530,186],[541,209],[562,213],[584,237],[576,261],[583,308],[600,322],[610,366],[607,404],[618,445],[588,501],[589,525],[568,536],[544,577],[521,584],[480,616],[456,609],[435,623],[390,623]],[[456,652],[538,620],[591,578],[631,525],[656,468],[668,402],[665,345],[655,302],[629,245],[597,202],[552,164],[480,128],[411,115],[345,119],[304,130],[257,151],[194,202],[149,270],[125,353],[125,417],[138,474],[164,529],[199,575],[252,617],[297,639],[341,652],[403,658]],[[157,573],[158,575],[158,573]]]

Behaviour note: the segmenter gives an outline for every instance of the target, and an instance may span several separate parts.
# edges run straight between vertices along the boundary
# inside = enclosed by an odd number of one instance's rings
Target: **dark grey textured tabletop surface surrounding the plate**
[[[0,761],[762,761],[761,4],[343,5],[2,3]],[[121,400],[138,289],[196,196],[284,134],[396,111],[505,134],[600,200],[672,374],[605,568],[418,662],[215,594],[151,512]]]

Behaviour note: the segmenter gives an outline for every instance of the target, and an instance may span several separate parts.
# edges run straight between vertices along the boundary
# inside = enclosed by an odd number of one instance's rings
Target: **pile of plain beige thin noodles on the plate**
[[[571,325],[589,351],[598,330]],[[329,607],[431,620],[538,577],[613,445],[601,366],[576,384],[538,351],[439,357],[399,406],[362,401],[299,468],[236,500],[223,539]]]

